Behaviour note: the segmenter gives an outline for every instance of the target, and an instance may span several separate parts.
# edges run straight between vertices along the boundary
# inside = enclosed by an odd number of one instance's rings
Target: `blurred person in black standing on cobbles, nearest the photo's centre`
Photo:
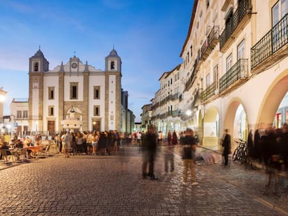
[[[158,179],[154,175],[154,160],[156,156],[156,147],[157,147],[157,135],[155,133],[154,126],[150,124],[148,132],[145,134],[143,144],[143,164],[142,164],[143,178],[150,176],[151,180]]]

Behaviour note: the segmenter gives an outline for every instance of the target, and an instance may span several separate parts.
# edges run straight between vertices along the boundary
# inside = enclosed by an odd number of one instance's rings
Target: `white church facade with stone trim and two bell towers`
[[[63,131],[61,121],[75,111],[80,131],[122,131],[121,58],[113,49],[105,70],[73,56],[49,70],[39,49],[29,58],[29,131]]]

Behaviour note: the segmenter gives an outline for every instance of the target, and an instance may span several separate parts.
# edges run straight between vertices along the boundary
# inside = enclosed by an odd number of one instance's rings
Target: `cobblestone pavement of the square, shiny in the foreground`
[[[285,192],[262,195],[260,169],[200,163],[200,184],[182,185],[179,151],[159,147],[158,181],[142,179],[141,151],[132,146],[120,156],[53,156],[1,169],[0,215],[288,215]],[[168,174],[167,157],[175,165]]]

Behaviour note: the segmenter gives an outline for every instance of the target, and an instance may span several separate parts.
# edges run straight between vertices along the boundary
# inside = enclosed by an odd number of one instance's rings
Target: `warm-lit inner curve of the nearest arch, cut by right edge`
[[[288,91],[288,69],[277,76],[267,89],[256,124],[272,124],[280,102]],[[257,127],[257,125],[255,125]]]

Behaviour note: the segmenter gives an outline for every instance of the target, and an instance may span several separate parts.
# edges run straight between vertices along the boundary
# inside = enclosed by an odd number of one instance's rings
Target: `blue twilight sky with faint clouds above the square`
[[[136,122],[160,88],[158,79],[182,63],[193,0],[0,0],[0,88],[28,99],[29,58],[39,46],[49,69],[76,56],[104,70],[115,46],[122,59],[122,88]]]

